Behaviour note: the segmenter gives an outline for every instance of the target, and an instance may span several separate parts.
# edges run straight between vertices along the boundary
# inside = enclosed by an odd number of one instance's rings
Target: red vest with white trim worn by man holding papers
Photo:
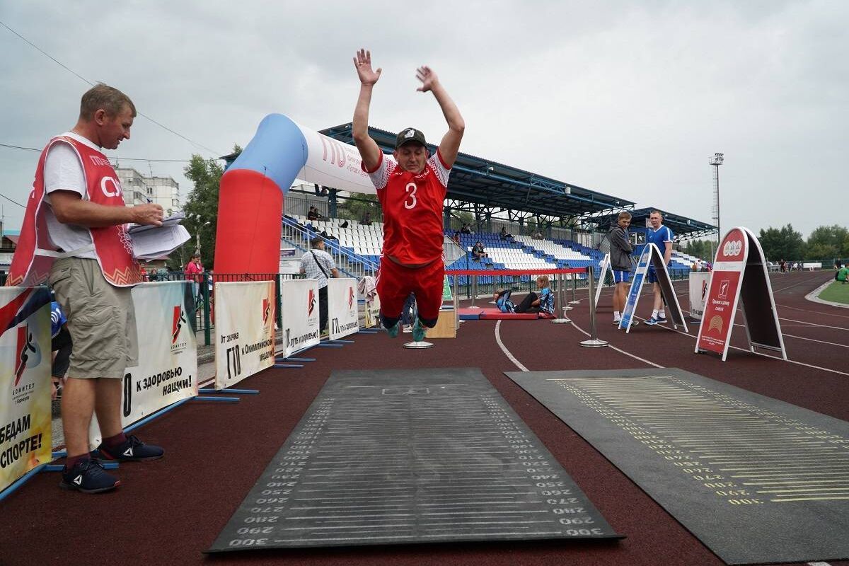
[[[106,156],[72,137],[53,137],[38,160],[36,180],[32,183],[30,199],[26,203],[24,225],[20,229],[18,247],[14,250],[12,266],[6,284],[9,286],[38,285],[47,280],[55,255],[42,255],[39,250],[55,252],[50,241],[47,220],[44,216],[44,163],[53,143],[69,143],[80,156],[86,179],[87,199],[97,205],[125,206],[121,182]],[[116,287],[129,287],[142,282],[138,261],[132,258],[132,242],[126,228],[108,226],[88,228],[94,243],[100,271]],[[66,249],[65,252],[73,250]]]

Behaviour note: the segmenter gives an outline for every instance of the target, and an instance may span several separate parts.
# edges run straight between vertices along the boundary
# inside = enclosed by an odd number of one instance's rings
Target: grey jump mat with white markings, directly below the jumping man
[[[621,538],[479,369],[334,372],[208,552]]]

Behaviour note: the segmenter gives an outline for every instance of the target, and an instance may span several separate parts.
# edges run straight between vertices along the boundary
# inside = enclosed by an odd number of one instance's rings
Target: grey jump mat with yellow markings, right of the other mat
[[[725,562],[849,558],[846,421],[680,369],[507,375]]]

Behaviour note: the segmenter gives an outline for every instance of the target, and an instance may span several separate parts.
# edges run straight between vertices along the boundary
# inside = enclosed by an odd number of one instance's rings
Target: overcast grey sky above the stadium
[[[429,64],[464,115],[464,153],[711,223],[722,152],[723,232],[849,226],[845,0],[0,0],[0,22],[193,142],[138,116],[110,156],[217,157],[270,113],[350,122],[366,47],[383,68],[372,126],[441,137],[436,101],[416,92]],[[0,144],[40,149],[74,126],[88,85],[2,25],[0,53]],[[0,147],[0,193],[25,203],[37,160]],[[184,164],[121,165],[191,189]],[[20,228],[23,209],[0,203]]]

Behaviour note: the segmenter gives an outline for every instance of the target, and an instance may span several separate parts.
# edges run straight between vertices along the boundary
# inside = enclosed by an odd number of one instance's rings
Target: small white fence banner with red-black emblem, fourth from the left
[[[281,286],[284,356],[318,344],[318,281],[292,279]]]

